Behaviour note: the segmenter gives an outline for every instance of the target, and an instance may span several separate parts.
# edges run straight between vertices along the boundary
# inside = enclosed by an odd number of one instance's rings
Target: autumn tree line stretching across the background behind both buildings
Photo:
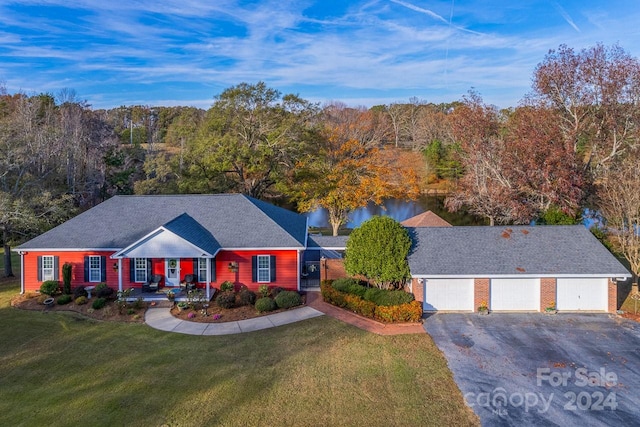
[[[72,90],[0,92],[0,228],[11,245],[115,194],[239,192],[329,212],[415,198],[489,224],[575,223],[598,212],[640,270],[640,65],[619,46],[561,45],[517,107],[461,100],[352,108],[240,83],[211,108],[94,110]],[[407,162],[407,153],[420,153]],[[415,157],[414,157],[415,159]],[[5,272],[6,273],[6,272]]]

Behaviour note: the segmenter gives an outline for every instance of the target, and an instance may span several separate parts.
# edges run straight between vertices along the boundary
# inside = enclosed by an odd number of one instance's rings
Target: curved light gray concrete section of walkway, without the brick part
[[[301,307],[236,322],[201,323],[178,319],[169,312],[167,307],[150,307],[144,316],[144,321],[154,329],[167,332],[187,335],[231,335],[274,328],[322,315],[323,313],[311,307]]]

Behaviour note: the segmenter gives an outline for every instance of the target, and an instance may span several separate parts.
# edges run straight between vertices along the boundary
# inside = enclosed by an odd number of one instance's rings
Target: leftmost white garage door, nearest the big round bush
[[[425,279],[424,311],[473,311],[473,279]]]

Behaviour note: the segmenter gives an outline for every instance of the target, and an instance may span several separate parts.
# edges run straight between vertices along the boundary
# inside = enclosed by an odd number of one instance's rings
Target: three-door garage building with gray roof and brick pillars
[[[582,225],[408,228],[425,311],[615,312],[631,274]]]

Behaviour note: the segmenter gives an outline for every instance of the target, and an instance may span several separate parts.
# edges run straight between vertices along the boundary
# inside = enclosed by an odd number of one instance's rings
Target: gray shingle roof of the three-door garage
[[[408,230],[414,276],[630,276],[582,225]]]

